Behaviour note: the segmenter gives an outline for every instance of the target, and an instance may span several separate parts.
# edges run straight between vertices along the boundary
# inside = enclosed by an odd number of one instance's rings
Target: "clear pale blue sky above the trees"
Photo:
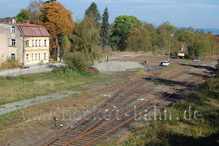
[[[0,18],[16,16],[30,0],[0,0]],[[120,15],[133,15],[159,26],[170,22],[176,27],[219,29],[219,0],[57,0],[81,20],[92,2],[102,15],[107,7],[109,22]]]

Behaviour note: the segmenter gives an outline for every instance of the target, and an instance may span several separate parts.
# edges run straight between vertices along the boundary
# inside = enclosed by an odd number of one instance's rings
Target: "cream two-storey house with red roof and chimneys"
[[[16,23],[7,19],[0,23],[0,63],[8,58],[19,60],[24,66],[49,62],[50,34],[44,26]]]

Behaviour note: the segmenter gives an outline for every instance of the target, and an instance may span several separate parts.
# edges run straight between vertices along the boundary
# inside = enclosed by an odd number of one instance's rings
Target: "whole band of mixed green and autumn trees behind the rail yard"
[[[71,68],[83,69],[109,51],[145,51],[165,55],[170,48],[176,55],[183,48],[191,59],[219,55],[219,41],[212,32],[176,28],[169,22],[158,27],[135,16],[121,15],[109,24],[106,8],[101,16],[93,2],[82,20],[75,21],[72,12],[56,0],[30,0],[26,9],[15,17],[18,23],[31,20],[44,25],[51,35],[50,55],[64,59]],[[75,65],[78,64],[78,65]]]

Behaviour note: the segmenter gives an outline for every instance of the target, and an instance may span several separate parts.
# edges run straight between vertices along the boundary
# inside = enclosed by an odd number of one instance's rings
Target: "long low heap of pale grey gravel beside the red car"
[[[94,67],[96,67],[100,72],[108,72],[108,71],[126,71],[129,69],[143,69],[142,66],[138,62],[132,61],[103,61],[94,63]]]

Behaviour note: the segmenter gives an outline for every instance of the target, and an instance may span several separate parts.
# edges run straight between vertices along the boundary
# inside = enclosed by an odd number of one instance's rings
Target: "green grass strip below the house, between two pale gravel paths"
[[[0,77],[0,105],[48,95],[63,90],[80,90],[82,85],[107,81],[111,76],[98,73],[78,73],[72,70]]]

